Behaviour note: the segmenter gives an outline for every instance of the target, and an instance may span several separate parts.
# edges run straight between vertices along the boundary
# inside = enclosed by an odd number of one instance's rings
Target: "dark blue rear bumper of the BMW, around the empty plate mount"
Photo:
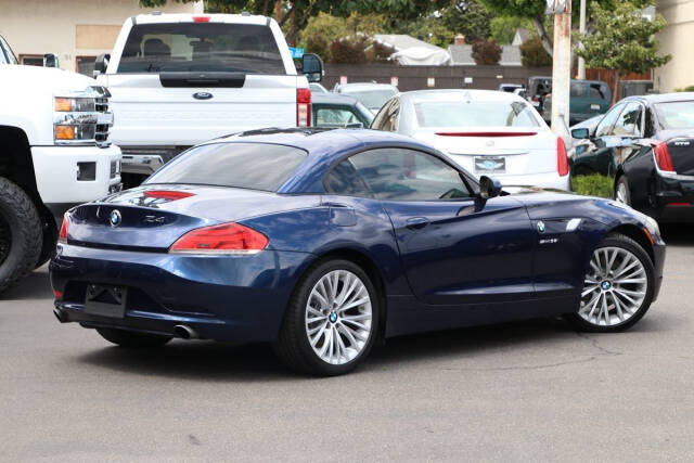
[[[177,324],[217,340],[277,338],[306,253],[265,250],[253,256],[187,256],[95,249],[59,244],[51,284],[63,321],[174,335]],[[126,287],[123,318],[85,311],[89,283]]]

